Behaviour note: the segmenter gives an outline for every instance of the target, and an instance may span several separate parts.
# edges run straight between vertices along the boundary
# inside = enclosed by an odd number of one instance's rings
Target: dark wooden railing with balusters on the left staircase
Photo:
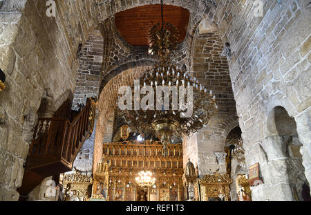
[[[73,122],[66,118],[39,118],[29,156],[60,159],[72,168],[82,144],[93,132],[95,106],[88,99]]]

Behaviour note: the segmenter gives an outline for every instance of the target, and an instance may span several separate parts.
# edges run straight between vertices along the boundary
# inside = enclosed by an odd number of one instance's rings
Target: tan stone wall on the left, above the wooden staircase
[[[60,16],[47,17],[44,1],[6,1],[0,10],[0,200],[17,200],[37,110],[48,97],[50,116],[72,95],[75,51]]]

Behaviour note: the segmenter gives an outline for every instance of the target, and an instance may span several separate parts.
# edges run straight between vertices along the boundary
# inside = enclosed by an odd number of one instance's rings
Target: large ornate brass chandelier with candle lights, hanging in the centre
[[[155,93],[151,100],[160,105],[148,106],[147,109],[126,109],[120,111],[131,131],[144,135],[157,135],[166,148],[171,144],[173,135],[187,135],[206,127],[209,118],[216,114],[216,97],[212,91],[191,77],[185,66],[178,67],[170,60],[171,50],[176,48],[178,30],[171,24],[164,24],[163,4],[161,1],[162,25],[157,24],[150,30],[150,48],[158,56],[156,66],[144,72],[139,83],[133,84],[132,99],[142,101],[144,94],[135,95],[140,89],[151,86]],[[135,83],[135,82],[134,82]],[[162,86],[169,91],[162,94],[160,101],[157,89]],[[171,93],[170,93],[171,92]],[[191,93],[192,92],[192,93]],[[157,95],[156,95],[157,94]],[[162,99],[162,95],[164,99]],[[181,95],[182,101],[180,100]],[[179,99],[179,102],[177,100]],[[150,102],[150,100],[149,100]],[[177,104],[178,103],[178,104]],[[177,104],[177,105],[176,105]],[[160,108],[159,108],[160,107]]]

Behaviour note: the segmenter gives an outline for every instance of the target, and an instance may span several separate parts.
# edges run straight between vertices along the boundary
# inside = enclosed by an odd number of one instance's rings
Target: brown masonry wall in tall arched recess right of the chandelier
[[[225,174],[225,140],[227,133],[238,124],[236,104],[227,57],[222,55],[222,41],[214,28],[200,27],[196,30],[192,47],[191,71],[200,84],[213,91],[218,113],[211,118],[206,128],[198,131],[196,141],[189,142],[191,147],[184,148],[184,151],[189,150],[188,153],[184,152],[184,161],[187,162],[188,154],[196,151],[200,176],[213,174],[216,170]]]

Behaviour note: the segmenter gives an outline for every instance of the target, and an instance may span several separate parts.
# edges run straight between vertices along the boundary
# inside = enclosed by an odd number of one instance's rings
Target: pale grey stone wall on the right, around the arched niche
[[[218,1],[216,12],[210,15],[223,32],[222,39],[231,44],[229,71],[247,167],[259,162],[261,172],[269,172],[264,184],[254,187],[254,200],[288,200],[291,191],[273,174],[279,167],[265,160],[262,144],[270,111],[283,106],[296,120],[310,182],[310,31],[306,30],[310,29],[310,5],[307,1],[264,1],[264,17],[255,17],[250,3],[242,3],[228,9],[230,3]],[[218,17],[220,13],[223,17]]]

